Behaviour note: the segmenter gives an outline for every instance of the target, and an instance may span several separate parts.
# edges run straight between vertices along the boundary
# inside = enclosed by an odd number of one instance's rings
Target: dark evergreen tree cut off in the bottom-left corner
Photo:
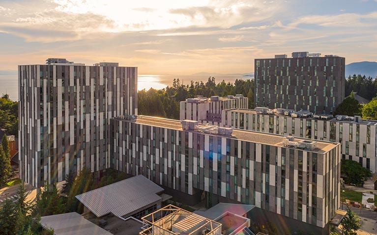
[[[0,205],[1,235],[14,235],[16,222],[17,220],[13,202],[9,199],[5,199],[5,201]]]

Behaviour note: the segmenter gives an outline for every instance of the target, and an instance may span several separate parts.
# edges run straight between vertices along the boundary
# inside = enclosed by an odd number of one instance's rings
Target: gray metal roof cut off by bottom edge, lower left
[[[112,235],[76,212],[43,216],[40,223],[55,235]]]

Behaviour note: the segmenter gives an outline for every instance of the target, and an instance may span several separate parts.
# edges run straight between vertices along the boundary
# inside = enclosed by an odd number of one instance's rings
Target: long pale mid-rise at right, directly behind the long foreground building
[[[281,114],[278,114],[278,111]],[[372,173],[376,173],[377,121],[362,120],[358,116],[314,117],[309,112],[291,113],[290,110],[279,109],[273,112],[271,109],[259,107],[255,110],[223,110],[222,116],[221,126],[224,127],[339,142],[342,144],[343,159],[357,161]]]

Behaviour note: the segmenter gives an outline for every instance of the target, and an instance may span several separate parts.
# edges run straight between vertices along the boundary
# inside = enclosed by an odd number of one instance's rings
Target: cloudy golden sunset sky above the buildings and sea
[[[377,61],[377,0],[0,0],[0,71],[61,57],[242,74],[293,51]]]

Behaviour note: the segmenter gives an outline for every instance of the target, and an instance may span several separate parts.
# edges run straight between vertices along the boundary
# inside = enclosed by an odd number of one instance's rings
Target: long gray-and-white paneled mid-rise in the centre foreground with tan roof
[[[111,122],[111,167],[144,175],[180,202],[252,204],[315,234],[339,208],[338,143],[147,116]]]

